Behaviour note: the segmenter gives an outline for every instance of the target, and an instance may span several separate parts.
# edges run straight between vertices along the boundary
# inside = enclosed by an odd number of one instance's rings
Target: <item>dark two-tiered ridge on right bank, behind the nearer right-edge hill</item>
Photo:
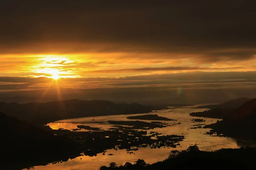
[[[206,105],[206,106],[199,106],[197,108],[208,108],[211,109],[209,111],[203,112],[195,112],[190,113],[190,116],[196,117],[209,117],[209,118],[216,118],[216,119],[224,119],[227,115],[230,115],[235,111],[236,108],[243,105],[245,102],[250,101],[250,99],[241,97],[238,99],[233,99],[228,102],[224,102],[219,105]]]

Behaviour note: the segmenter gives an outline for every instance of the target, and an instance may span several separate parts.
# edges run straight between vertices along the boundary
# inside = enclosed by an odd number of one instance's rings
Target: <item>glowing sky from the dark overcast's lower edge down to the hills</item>
[[[254,57],[207,62],[191,56],[165,58],[168,54],[127,57],[132,55],[135,54],[2,55],[0,93],[5,97],[0,100],[46,102],[77,98],[201,103],[256,95]]]

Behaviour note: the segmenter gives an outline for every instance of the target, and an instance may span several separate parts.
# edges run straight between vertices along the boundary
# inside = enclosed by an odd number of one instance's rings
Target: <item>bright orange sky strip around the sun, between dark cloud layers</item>
[[[256,59],[203,62],[196,58],[161,59],[161,54],[142,54],[155,58],[129,58],[133,54],[9,54],[2,55],[1,76],[124,77],[182,73],[191,71],[255,71]],[[140,54],[137,54],[140,55]],[[167,55],[167,54],[166,54]],[[173,55],[173,54],[169,54]]]

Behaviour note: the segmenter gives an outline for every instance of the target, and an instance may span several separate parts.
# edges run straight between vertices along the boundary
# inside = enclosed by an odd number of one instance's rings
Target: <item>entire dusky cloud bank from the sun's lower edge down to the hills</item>
[[[58,82],[46,77],[0,77],[0,101],[24,103],[76,98],[177,104],[225,102],[241,96],[255,97],[255,75],[256,71],[194,71],[119,78],[66,78]]]

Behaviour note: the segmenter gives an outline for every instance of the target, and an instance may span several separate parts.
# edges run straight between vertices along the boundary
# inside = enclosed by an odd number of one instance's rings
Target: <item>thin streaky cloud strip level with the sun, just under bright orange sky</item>
[[[206,80],[219,80],[225,79],[256,79],[256,71],[228,71],[228,72],[204,72],[193,71],[188,73],[175,73],[175,74],[151,74],[151,75],[138,75],[138,76],[125,76],[125,77],[89,77],[89,78],[65,78],[64,82],[103,82],[103,81],[127,81],[127,80],[151,80],[157,81],[159,79],[169,79],[172,81],[206,81]],[[0,76],[0,82],[16,82],[16,83],[47,83],[52,79],[47,77],[3,77]]]

